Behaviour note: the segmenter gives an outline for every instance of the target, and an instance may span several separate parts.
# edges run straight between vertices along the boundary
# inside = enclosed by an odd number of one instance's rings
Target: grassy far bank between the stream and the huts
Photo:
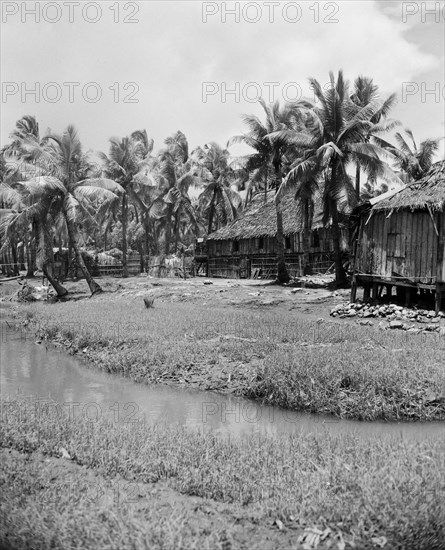
[[[140,303],[139,303],[140,302]],[[444,420],[445,339],[284,309],[102,296],[24,308],[30,334],[137,382],[232,391],[271,405],[362,420]],[[229,382],[228,382],[229,381]]]

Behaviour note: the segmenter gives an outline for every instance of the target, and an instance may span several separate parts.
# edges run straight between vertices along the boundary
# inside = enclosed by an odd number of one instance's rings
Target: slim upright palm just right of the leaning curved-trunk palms
[[[99,153],[100,158],[105,164],[104,175],[123,188],[122,193],[122,276],[128,277],[127,267],[127,227],[128,227],[128,207],[129,198],[135,198],[135,184],[140,184],[146,176],[148,166],[148,157],[153,151],[153,140],[148,139],[145,130],[133,132],[130,137],[122,139],[110,139],[110,153],[107,157]],[[144,180],[145,181],[145,180]],[[140,204],[140,201],[138,201]],[[142,207],[143,214],[145,208]]]

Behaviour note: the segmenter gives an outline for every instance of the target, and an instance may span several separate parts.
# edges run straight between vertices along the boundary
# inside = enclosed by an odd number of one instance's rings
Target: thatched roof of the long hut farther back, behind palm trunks
[[[302,216],[294,193],[286,194],[281,201],[283,212],[283,230],[285,235],[303,230]],[[275,193],[257,193],[241,217],[232,223],[211,233],[207,240],[223,241],[237,239],[252,239],[258,237],[273,237],[277,233],[277,215],[275,210]]]

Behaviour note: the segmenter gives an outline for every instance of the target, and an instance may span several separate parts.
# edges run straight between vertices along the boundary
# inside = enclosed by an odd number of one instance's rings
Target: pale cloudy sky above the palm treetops
[[[225,145],[260,95],[310,98],[308,78],[339,69],[397,93],[417,141],[445,134],[443,1],[4,0],[1,31],[2,145],[25,114],[41,132],[74,124],[85,150],[138,129],[155,151],[177,130]]]

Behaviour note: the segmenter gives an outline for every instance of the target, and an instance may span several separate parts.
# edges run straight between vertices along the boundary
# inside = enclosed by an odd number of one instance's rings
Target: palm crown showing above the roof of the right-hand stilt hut
[[[375,138],[375,142],[396,158],[395,165],[402,172],[401,179],[409,183],[421,179],[428,172],[443,138],[425,139],[417,146],[411,130],[405,128],[405,133],[411,140],[411,146],[399,132],[395,135],[398,147],[379,138]]]

